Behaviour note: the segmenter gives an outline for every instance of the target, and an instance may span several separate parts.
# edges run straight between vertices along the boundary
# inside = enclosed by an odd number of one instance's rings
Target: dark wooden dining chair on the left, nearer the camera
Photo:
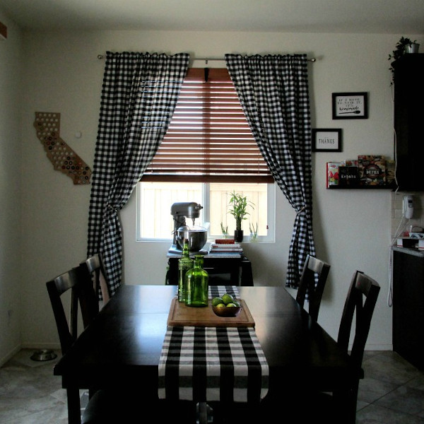
[[[78,304],[80,305],[83,327],[86,328],[98,313],[98,300],[94,293],[90,273],[86,266],[77,266],[51,281],[47,281],[47,292],[54,319],[56,321],[62,355],[69,351],[78,337]],[[65,293],[69,293],[70,299],[65,300]],[[69,312],[66,314],[65,305],[68,303]],[[81,402],[79,390],[66,389],[69,407],[69,423],[97,424],[110,422],[107,419],[112,416],[108,405],[114,402],[110,394],[105,391],[90,393],[90,400],[85,408],[81,419]],[[74,407],[74,406],[79,406]],[[78,413],[76,412],[78,411]]]

